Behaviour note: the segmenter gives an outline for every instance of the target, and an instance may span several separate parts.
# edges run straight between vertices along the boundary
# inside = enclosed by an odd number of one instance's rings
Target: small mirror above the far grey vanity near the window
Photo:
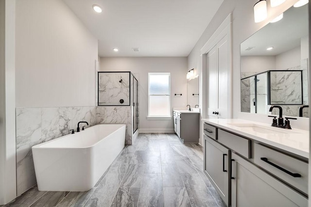
[[[187,82],[187,103],[191,108],[199,105],[199,75]]]

